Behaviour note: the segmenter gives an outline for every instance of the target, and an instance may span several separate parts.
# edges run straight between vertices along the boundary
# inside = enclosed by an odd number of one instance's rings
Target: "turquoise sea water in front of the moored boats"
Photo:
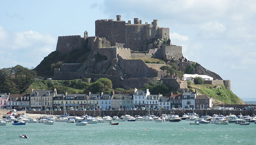
[[[135,121],[120,122],[119,125],[97,123],[86,126],[77,126],[75,123],[66,122],[54,122],[54,125],[44,125],[42,123],[12,125],[8,123],[6,126],[0,126],[0,144],[256,144],[256,124],[254,123],[250,125],[189,125],[190,122],[183,120],[178,123]],[[29,138],[21,138],[19,134],[26,134]]]

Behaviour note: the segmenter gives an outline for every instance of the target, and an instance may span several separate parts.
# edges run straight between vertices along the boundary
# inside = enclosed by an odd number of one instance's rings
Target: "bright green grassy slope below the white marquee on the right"
[[[197,89],[198,95],[207,95],[212,98],[212,102],[222,104],[223,100],[225,104],[244,104],[242,99],[223,85],[190,85],[190,90],[195,91],[195,89]]]

